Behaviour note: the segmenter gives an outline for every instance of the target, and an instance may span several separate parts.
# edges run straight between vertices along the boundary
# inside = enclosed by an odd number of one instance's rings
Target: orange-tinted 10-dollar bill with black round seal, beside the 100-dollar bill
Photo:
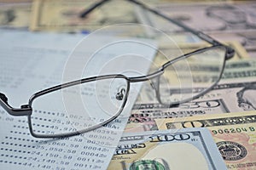
[[[157,119],[159,129],[207,127],[229,169],[256,168],[256,111]]]

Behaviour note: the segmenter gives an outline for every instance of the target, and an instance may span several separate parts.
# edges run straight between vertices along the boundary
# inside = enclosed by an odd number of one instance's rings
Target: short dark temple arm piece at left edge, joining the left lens
[[[21,105],[20,109],[13,108],[8,104],[8,99],[4,94],[0,93],[0,105],[11,116],[28,116],[32,114],[32,108],[29,105]]]

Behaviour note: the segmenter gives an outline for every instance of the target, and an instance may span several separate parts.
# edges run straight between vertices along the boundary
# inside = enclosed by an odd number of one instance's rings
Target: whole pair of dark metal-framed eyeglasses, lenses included
[[[81,14],[90,14],[94,8],[108,0],[96,3]],[[149,8],[136,0],[129,0],[140,7],[156,14],[173,24],[182,27],[202,40],[212,44],[211,47],[201,48],[189,54],[183,54],[171,59],[160,69],[141,77],[125,77],[121,74],[88,77],[73,82],[44,89],[33,94],[27,105],[13,108],[8,104],[4,94],[0,94],[0,105],[12,116],[27,116],[28,126],[32,136],[36,138],[62,138],[87,133],[113,122],[124,110],[129,96],[130,85],[133,82],[156,80],[153,86],[156,98],[161,105],[179,105],[196,99],[215,86],[224,71],[225,61],[231,59],[235,50],[212,39],[201,31],[195,31],[177,20]],[[210,65],[209,65],[210,64]],[[211,78],[199,82],[194,78],[197,72],[192,66],[204,66],[211,70]],[[178,72],[185,72],[179,75]],[[189,76],[189,81],[181,83],[180,78]],[[185,78],[184,78],[185,80]],[[82,103],[76,103],[73,96],[78,95]],[[68,115],[65,113],[63,98],[69,98],[68,105],[78,105]],[[80,106],[79,106],[80,105]],[[85,110],[84,110],[85,108]],[[65,118],[61,121],[60,118]]]

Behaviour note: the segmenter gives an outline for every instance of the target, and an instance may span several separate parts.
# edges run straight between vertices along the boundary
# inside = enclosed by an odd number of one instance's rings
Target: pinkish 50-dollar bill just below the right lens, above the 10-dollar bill
[[[165,108],[160,104],[135,105],[125,127],[126,132],[157,130],[157,118],[174,118],[218,113],[256,111],[256,82],[219,84],[201,99]]]

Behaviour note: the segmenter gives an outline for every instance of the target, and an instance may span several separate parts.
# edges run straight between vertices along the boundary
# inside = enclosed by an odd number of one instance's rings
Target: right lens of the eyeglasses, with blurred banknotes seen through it
[[[160,77],[160,102],[174,105],[197,97],[212,88],[221,77],[224,47],[207,48],[167,65]]]

